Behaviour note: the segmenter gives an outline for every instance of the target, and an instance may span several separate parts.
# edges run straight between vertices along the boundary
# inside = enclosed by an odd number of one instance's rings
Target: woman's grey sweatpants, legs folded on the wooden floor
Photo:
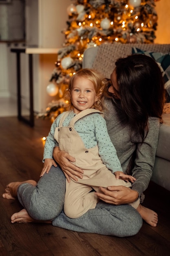
[[[142,226],[139,213],[130,205],[99,202],[95,209],[71,219],[63,212],[66,178],[59,167],[51,167],[37,186],[28,183],[18,188],[18,200],[36,220],[53,220],[53,226],[78,232],[111,236],[133,236]]]

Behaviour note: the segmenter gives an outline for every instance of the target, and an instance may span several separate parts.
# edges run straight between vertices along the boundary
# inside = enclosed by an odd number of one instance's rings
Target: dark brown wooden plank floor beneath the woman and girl
[[[31,128],[16,117],[0,118],[1,195],[11,181],[38,181],[41,139],[50,126],[49,120],[35,120]],[[170,192],[150,183],[145,194],[144,205],[158,213],[159,223],[154,228],[144,222],[136,236],[127,238],[78,233],[49,224],[11,224],[11,215],[22,207],[18,200],[1,198],[0,256],[169,256]]]

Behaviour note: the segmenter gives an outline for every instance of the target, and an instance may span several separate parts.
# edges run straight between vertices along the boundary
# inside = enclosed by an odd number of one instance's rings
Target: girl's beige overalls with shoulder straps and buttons
[[[99,186],[105,188],[120,185],[131,187],[130,182],[116,180],[115,175],[102,162],[98,153],[98,146],[90,149],[85,148],[81,137],[74,129],[77,120],[94,112],[101,113],[95,109],[84,110],[71,119],[70,126],[64,127],[62,123],[69,114],[69,111],[67,111],[62,115],[59,127],[55,128],[54,137],[58,141],[60,150],[65,150],[69,155],[75,157],[76,161],[73,164],[84,171],[83,179],[78,178],[77,182],[71,180],[70,183],[66,180],[64,213],[69,218],[78,218],[89,209],[96,207],[98,199],[95,192],[91,192],[92,188],[101,192]],[[137,208],[139,202],[134,202],[131,205]]]

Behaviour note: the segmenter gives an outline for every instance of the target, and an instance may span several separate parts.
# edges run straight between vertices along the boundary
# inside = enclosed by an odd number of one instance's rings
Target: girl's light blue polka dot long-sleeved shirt
[[[46,158],[53,158],[53,148],[58,146],[57,141],[54,139],[54,132],[55,128],[59,126],[61,116],[62,114],[55,119],[49,135],[46,137],[43,162]],[[74,116],[75,113],[73,111],[70,112],[62,125],[69,126],[70,121]],[[115,171],[122,171],[121,164],[116,154],[116,149],[108,135],[106,121],[99,113],[91,113],[76,121],[75,130],[78,132],[86,148],[93,148],[98,145],[99,155],[108,169],[113,173]]]

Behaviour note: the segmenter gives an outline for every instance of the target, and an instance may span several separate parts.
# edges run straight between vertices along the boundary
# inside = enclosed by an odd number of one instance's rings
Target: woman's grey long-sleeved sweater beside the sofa
[[[132,184],[132,189],[141,195],[148,187],[152,176],[152,168],[155,162],[159,136],[159,119],[149,118],[149,132],[141,144],[140,135],[132,132],[132,144],[130,140],[130,127],[123,124],[123,113],[119,100],[107,99],[106,106],[109,111],[105,114],[105,120],[110,139],[117,150],[124,173],[131,174],[137,180]],[[132,157],[135,154],[135,160]]]

